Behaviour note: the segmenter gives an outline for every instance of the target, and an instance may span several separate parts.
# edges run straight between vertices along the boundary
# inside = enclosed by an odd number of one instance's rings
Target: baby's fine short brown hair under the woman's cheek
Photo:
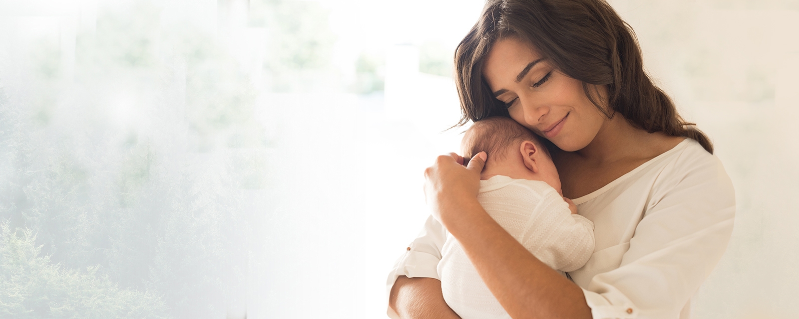
[[[503,160],[508,148],[518,148],[525,140],[533,142],[541,152],[549,155],[547,147],[534,132],[511,118],[491,116],[476,121],[466,130],[461,143],[463,158],[471,159],[479,152],[486,152],[489,160]]]

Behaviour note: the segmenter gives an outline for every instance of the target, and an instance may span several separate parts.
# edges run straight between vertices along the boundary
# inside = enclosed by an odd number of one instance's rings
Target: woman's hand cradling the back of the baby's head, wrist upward
[[[486,152],[479,152],[467,166],[463,157],[455,153],[439,156],[433,166],[424,171],[424,195],[431,214],[447,226],[455,211],[462,211],[464,202],[477,202],[480,172],[486,163]]]

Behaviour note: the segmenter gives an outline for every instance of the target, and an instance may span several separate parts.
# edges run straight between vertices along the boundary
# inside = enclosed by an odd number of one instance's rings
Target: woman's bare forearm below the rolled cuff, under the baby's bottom
[[[392,286],[388,306],[403,319],[460,319],[444,301],[441,282],[435,278],[400,276]]]

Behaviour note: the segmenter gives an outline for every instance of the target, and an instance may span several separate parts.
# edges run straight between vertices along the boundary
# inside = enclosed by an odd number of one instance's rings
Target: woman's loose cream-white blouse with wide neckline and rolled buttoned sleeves
[[[573,199],[594,223],[594,254],[570,277],[594,319],[690,316],[690,297],[729,242],[735,192],[718,157],[686,139],[605,187]],[[446,230],[427,219],[388,275],[439,278]],[[388,308],[388,316],[397,314]]]

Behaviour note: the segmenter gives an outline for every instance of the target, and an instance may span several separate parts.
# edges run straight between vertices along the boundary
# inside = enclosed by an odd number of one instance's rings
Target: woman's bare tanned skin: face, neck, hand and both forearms
[[[634,128],[620,114],[607,119],[585,96],[580,81],[559,73],[547,60],[539,61],[516,81],[527,65],[541,58],[531,45],[505,38],[492,47],[483,76],[491,90],[499,93],[497,98],[509,102],[514,120],[562,149],[554,152],[552,159],[566,197],[590,194],[683,140]],[[546,81],[542,81],[544,77]],[[603,100],[606,88],[594,85],[591,89]],[[450,153],[427,168],[425,193],[433,215],[459,240],[483,282],[511,317],[589,319],[590,308],[582,290],[527,252],[479,205],[484,156],[481,152],[463,167],[463,158]],[[407,313],[403,317],[416,317],[411,310],[419,298],[435,294],[430,290],[440,290],[440,285],[423,287],[417,284],[419,278],[401,279],[392,287],[389,306]],[[410,296],[396,298],[395,292],[409,292]],[[427,309],[443,306],[446,303]],[[439,314],[423,315],[443,317]]]

